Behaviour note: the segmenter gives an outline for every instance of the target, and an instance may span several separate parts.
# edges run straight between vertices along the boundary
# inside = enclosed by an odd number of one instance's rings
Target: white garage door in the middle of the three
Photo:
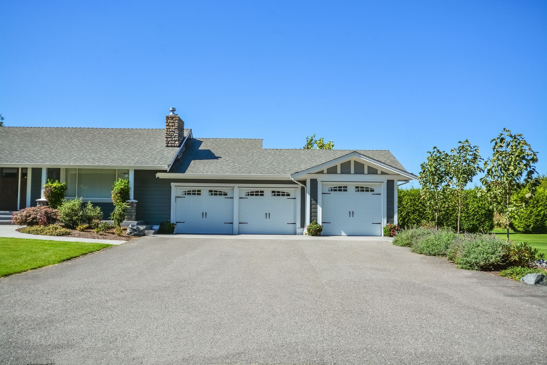
[[[296,234],[295,189],[239,189],[240,234]]]

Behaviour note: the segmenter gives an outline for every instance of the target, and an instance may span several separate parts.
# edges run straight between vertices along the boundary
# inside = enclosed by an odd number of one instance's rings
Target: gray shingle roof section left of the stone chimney
[[[164,129],[0,128],[0,164],[168,166],[177,151]]]

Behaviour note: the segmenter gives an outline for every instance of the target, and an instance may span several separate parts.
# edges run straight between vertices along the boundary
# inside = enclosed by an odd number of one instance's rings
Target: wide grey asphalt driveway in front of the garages
[[[386,241],[147,237],[0,279],[0,363],[544,364],[546,300]]]

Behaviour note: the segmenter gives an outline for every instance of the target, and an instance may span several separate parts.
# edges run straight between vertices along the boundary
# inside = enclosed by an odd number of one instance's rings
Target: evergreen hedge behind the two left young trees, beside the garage
[[[398,190],[397,220],[402,228],[421,224],[435,224],[435,217],[427,212],[420,189]],[[457,228],[458,210],[451,204],[439,215],[439,227]],[[494,228],[494,213],[475,189],[465,190],[460,229],[469,233],[487,232]]]

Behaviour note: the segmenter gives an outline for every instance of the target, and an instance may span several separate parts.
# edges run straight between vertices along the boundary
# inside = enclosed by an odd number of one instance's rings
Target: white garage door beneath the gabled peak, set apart
[[[323,235],[381,236],[381,184],[323,183]]]

